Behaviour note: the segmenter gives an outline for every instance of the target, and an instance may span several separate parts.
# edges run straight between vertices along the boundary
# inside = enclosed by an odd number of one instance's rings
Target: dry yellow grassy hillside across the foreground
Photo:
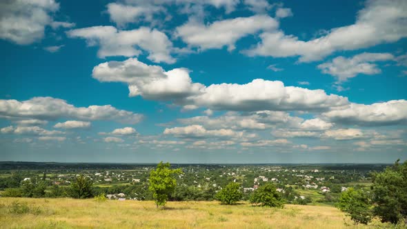
[[[157,210],[152,201],[0,198],[0,228],[352,227],[346,224],[352,225],[352,221],[328,206],[273,209],[193,201],[168,202],[166,210]]]

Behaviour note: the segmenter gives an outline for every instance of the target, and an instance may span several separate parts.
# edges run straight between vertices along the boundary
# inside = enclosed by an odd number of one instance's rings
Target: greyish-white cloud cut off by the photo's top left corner
[[[54,0],[1,1],[0,38],[20,45],[39,41],[52,22],[50,14],[57,10],[59,4]]]

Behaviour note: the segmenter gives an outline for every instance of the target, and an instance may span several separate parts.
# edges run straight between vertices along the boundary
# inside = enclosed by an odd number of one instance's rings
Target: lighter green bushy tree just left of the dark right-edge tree
[[[369,195],[366,191],[348,188],[341,193],[337,208],[346,212],[355,225],[358,223],[368,224],[372,221],[373,212]]]

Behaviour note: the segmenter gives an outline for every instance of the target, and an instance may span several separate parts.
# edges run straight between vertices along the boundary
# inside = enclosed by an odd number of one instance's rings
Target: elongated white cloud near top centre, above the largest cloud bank
[[[278,22],[275,19],[266,15],[255,15],[215,21],[208,26],[197,21],[188,21],[183,26],[177,27],[176,33],[189,46],[201,50],[224,46],[228,46],[228,50],[234,50],[235,42],[241,37],[261,30],[274,30],[277,26]]]

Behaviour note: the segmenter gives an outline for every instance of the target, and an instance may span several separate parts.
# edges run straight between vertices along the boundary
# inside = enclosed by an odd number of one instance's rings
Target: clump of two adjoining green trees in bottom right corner
[[[367,224],[373,217],[381,222],[407,225],[407,161],[374,172],[370,190],[349,188],[341,193],[337,207],[350,215],[355,224]]]

